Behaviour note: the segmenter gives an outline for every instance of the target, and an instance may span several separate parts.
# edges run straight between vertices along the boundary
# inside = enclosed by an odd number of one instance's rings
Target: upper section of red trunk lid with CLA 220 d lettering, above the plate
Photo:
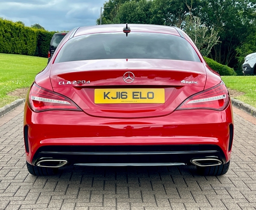
[[[143,73],[145,70],[149,72]],[[111,74],[104,74],[104,72],[109,71],[111,71]],[[160,59],[109,59],[53,64],[51,82],[53,88],[70,87],[69,84],[59,85],[59,82],[73,80],[90,81],[90,85],[96,86],[128,85],[123,80],[123,74],[127,71],[140,71],[135,75],[136,79],[129,85],[204,86],[206,81],[206,70],[201,62]],[[181,83],[182,80],[197,83]],[[220,80],[218,81],[220,82]],[[88,84],[75,84],[73,86],[81,87],[88,86]]]

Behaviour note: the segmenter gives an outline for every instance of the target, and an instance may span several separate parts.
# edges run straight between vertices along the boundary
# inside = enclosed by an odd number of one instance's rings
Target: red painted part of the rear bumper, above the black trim
[[[231,104],[224,111],[186,110],[144,119],[109,119],[81,111],[35,113],[25,104],[24,124],[29,126],[32,163],[38,148],[46,145],[185,145],[214,144],[230,160]],[[231,110],[231,111],[230,111]]]

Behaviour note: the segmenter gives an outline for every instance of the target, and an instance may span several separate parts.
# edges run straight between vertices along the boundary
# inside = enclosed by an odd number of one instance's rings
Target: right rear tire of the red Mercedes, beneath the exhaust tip
[[[230,165],[230,161],[225,164],[221,164],[221,165],[206,166],[206,167],[196,166],[196,167],[197,167],[198,173],[200,175],[221,176],[221,175],[227,173],[229,165]]]

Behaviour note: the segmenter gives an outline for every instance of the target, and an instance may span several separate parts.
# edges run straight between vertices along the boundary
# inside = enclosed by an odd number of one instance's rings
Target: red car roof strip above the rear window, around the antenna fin
[[[77,29],[74,37],[81,36],[84,34],[97,34],[97,33],[111,33],[111,32],[122,32],[126,24],[108,24],[98,26],[84,26]],[[159,25],[146,25],[146,24],[128,24],[128,27],[136,32],[151,32],[151,33],[163,33],[173,34],[180,36],[180,33],[175,27],[172,26],[159,26]]]

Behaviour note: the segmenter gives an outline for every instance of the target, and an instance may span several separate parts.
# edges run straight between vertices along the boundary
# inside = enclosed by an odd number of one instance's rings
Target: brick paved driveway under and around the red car
[[[255,210],[256,121],[236,111],[230,170],[207,177],[183,166],[68,167],[58,176],[32,176],[20,113],[0,126],[0,209]]]

